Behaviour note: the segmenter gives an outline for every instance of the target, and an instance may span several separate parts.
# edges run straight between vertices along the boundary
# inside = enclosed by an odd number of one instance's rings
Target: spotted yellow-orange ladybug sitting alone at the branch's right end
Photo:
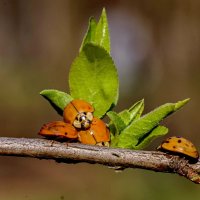
[[[197,148],[192,144],[192,142],[179,136],[167,138],[161,143],[161,145],[157,149],[174,154],[179,154],[188,158],[193,163],[196,163],[199,158]]]

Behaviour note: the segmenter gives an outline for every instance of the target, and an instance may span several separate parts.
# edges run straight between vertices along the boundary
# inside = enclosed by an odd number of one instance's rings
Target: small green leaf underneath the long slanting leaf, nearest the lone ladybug
[[[148,146],[154,139],[164,136],[168,133],[168,128],[165,126],[156,126],[153,130],[150,131],[145,137],[141,138],[141,141],[133,147],[134,149],[144,149]]]

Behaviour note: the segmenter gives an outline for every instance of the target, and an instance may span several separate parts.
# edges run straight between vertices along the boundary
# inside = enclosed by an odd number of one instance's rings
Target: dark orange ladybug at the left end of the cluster
[[[63,121],[54,121],[44,124],[40,129],[39,135],[57,139],[77,139],[78,132],[71,125]]]

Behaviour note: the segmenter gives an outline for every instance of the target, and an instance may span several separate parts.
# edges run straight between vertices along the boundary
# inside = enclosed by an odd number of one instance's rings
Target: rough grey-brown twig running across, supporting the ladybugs
[[[0,155],[53,159],[56,162],[102,164],[114,169],[141,168],[178,173],[200,184],[200,161],[189,164],[179,156],[159,151],[133,151],[37,138],[0,137]]]

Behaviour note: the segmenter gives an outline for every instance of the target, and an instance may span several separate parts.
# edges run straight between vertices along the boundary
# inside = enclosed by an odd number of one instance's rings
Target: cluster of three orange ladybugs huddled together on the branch
[[[106,124],[93,116],[93,106],[75,99],[64,109],[64,121],[44,124],[39,135],[48,138],[78,140],[83,144],[109,146],[110,132]]]

